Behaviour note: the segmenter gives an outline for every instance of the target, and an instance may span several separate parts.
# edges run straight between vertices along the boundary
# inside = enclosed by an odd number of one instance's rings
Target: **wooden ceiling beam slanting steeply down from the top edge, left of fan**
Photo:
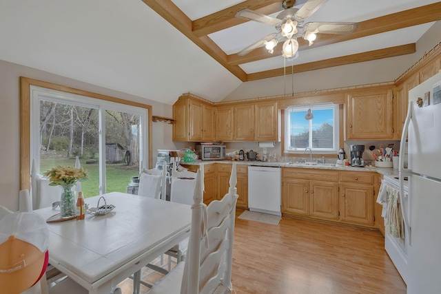
[[[223,65],[229,72],[234,74],[240,81],[247,81],[247,74],[238,65],[227,63],[227,54],[219,48],[216,43],[211,41],[208,36],[198,38],[192,32],[192,20],[182,12],[171,0],[143,0],[163,19],[171,23],[178,31],[182,32],[188,39],[193,41],[199,48],[212,56],[220,65]]]

